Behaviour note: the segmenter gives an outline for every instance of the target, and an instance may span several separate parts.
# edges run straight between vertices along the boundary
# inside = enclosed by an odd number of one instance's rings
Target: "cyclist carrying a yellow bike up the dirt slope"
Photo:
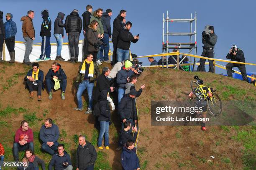
[[[194,79],[197,80],[197,83],[199,85],[204,84],[204,81],[199,79],[198,76],[195,76]],[[212,97],[212,93],[211,93],[212,89],[211,88],[206,87],[206,86],[202,86],[202,89],[205,92],[205,94],[207,94],[207,96]],[[196,93],[200,93],[200,96],[203,96],[203,94],[202,94],[202,92],[200,90],[196,90],[196,88],[195,88],[194,91]],[[191,91],[190,94],[189,94],[189,98],[191,100],[193,99],[193,94],[194,94],[193,91]],[[198,108],[202,107],[202,113],[201,112],[197,112],[197,114],[200,114],[199,117],[206,118],[206,114],[207,114],[207,101],[206,101],[206,99],[204,99],[203,101],[199,100],[198,98],[196,98],[196,99],[197,99],[197,101],[196,101],[195,107],[198,107]],[[206,123],[206,121],[202,121],[202,126],[201,126],[202,130],[206,130],[205,123]]]

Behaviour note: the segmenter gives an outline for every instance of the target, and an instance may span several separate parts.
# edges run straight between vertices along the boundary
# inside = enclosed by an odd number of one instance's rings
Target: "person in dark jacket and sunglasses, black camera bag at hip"
[[[92,54],[93,62],[96,62],[97,60],[97,53],[100,50],[100,46],[107,46],[106,43],[103,43],[98,38],[98,25],[99,23],[96,20],[93,20],[91,24],[88,26],[88,31],[86,33],[86,41],[88,42],[87,53]]]

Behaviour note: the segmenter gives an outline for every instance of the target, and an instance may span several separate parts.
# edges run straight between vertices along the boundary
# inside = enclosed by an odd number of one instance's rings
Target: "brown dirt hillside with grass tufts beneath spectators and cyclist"
[[[40,62],[44,74],[52,61]],[[44,119],[50,117],[59,126],[61,138],[67,152],[74,161],[78,136],[85,134],[87,140],[97,146],[98,132],[94,128],[94,117],[75,111],[77,106],[73,81],[79,63],[60,62],[67,74],[66,100],[60,98],[60,91],[49,100],[46,90],[42,101],[30,99],[23,78],[29,66],[22,63],[0,63],[0,142],[5,147],[5,160],[13,160],[12,146],[20,121],[26,119],[34,132],[35,153],[48,165],[51,156],[40,150],[38,132]],[[104,63],[103,66],[110,66]],[[102,66],[101,66],[102,68]],[[201,131],[199,126],[151,126],[151,100],[187,100],[190,81],[198,75],[207,86],[217,89],[223,101],[240,100],[239,106],[255,118],[255,86],[246,82],[211,73],[190,73],[173,69],[146,68],[136,84],[146,84],[137,99],[141,134],[138,142],[138,156],[143,170],[171,169],[253,169],[256,167],[256,126],[210,126]],[[86,94],[85,94],[86,96]],[[87,99],[87,97],[85,97]],[[87,101],[84,102],[84,108]],[[116,152],[120,120],[112,114],[110,125],[110,150],[98,149],[95,169],[120,170],[120,152]],[[60,142],[60,141],[59,141]],[[20,158],[23,157],[20,152]],[[214,159],[209,156],[215,156]]]

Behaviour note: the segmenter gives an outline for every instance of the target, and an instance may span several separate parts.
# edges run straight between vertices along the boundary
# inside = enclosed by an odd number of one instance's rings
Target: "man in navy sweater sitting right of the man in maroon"
[[[40,129],[40,139],[43,141],[42,150],[54,155],[58,149],[57,142],[59,138],[59,127],[52,122],[52,119],[46,119],[44,125]]]

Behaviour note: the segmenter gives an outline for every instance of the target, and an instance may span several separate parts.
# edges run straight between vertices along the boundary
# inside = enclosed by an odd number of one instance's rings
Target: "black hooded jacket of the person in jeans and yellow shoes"
[[[100,92],[100,103],[99,103],[99,107],[100,107],[100,116],[98,118],[98,121],[110,121],[111,118],[111,113],[110,113],[110,107],[108,104],[108,91],[107,90],[102,90]]]

